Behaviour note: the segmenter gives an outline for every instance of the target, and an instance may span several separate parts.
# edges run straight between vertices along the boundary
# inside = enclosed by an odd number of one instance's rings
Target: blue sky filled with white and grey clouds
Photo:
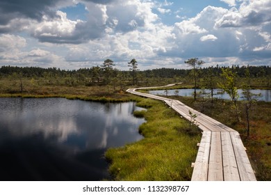
[[[0,0],[0,66],[271,65],[271,0]]]

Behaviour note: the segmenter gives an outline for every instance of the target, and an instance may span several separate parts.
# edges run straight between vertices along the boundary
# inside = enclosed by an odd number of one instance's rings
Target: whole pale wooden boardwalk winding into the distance
[[[174,84],[167,86],[174,86]],[[195,120],[202,130],[202,140],[198,144],[197,158],[192,165],[194,167],[192,181],[256,181],[245,147],[236,130],[178,100],[136,91],[137,89],[148,88],[158,87],[129,88],[127,92],[145,98],[161,100],[187,120],[190,120],[189,111],[197,115]]]

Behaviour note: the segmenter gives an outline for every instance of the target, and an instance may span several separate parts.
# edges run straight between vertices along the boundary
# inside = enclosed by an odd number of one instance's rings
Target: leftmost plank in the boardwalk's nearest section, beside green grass
[[[211,132],[203,132],[192,173],[192,181],[206,181],[208,174],[208,159],[211,145]]]

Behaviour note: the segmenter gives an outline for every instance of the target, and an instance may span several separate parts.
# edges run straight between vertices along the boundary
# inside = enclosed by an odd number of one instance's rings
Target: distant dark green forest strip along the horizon
[[[226,67],[208,67],[208,68],[200,68],[199,72],[202,75],[206,75],[208,70],[213,69],[215,75],[220,75],[222,73],[222,68]],[[245,77],[245,70],[248,68],[250,75],[252,77],[268,77],[271,75],[271,67],[264,66],[241,66],[232,65],[231,70],[237,72],[239,77]],[[130,75],[128,70],[113,70],[113,75],[116,73],[120,73]],[[142,74],[143,77],[161,77],[161,78],[173,78],[173,77],[186,77],[189,75],[191,70],[185,69],[175,69],[175,68],[156,68],[153,70],[138,70],[139,75]],[[102,77],[103,70],[99,66],[94,66],[92,68],[80,68],[79,70],[60,70],[60,68],[40,68],[40,67],[18,67],[18,66],[10,66],[3,65],[0,68],[0,76],[8,76],[13,75],[13,73],[22,74],[23,77],[46,77],[49,75],[55,76],[67,76],[67,75],[84,75],[85,77],[93,77],[94,75]]]

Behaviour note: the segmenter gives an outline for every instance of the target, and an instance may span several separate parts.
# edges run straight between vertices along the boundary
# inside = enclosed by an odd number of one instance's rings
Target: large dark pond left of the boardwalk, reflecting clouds
[[[106,149],[142,139],[134,102],[0,98],[0,180],[103,180]]]

